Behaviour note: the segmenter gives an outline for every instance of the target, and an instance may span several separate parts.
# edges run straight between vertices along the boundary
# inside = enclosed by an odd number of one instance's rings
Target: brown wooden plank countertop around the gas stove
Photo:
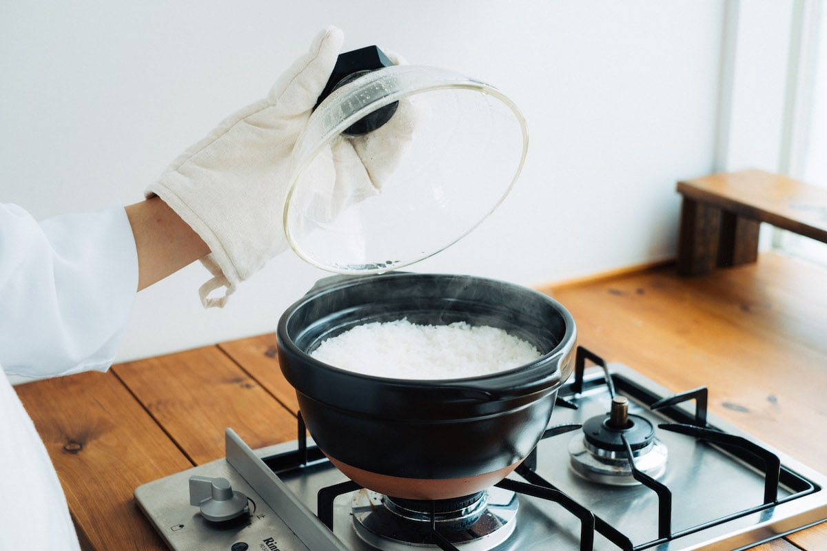
[[[827,471],[827,270],[774,254],[680,278],[672,265],[544,289],[579,343]],[[275,335],[17,387],[65,487],[84,549],[165,549],[135,487],[223,456],[230,426],[253,448],[296,438]],[[760,551],[827,549],[827,524]]]

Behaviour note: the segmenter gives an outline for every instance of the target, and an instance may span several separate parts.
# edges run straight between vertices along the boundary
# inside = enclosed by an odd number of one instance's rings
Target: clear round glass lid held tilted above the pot
[[[336,273],[381,273],[460,240],[523,167],[525,121],[496,88],[394,65],[337,88],[294,149],[284,232]]]

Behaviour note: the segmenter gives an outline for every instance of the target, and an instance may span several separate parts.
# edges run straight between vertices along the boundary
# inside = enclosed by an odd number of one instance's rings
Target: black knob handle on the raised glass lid
[[[393,64],[394,63],[388,59],[388,56],[385,55],[385,52],[380,50],[378,46],[366,46],[359,50],[352,50],[340,54],[336,60],[336,65],[333,67],[333,72],[330,74],[330,78],[327,79],[327,84],[323,88],[321,95],[319,95],[316,106],[313,108],[318,107],[318,105],[337,88],[353,82],[362,75],[368,74],[376,69],[390,67]],[[390,121],[390,117],[394,116],[394,112],[396,112],[396,107],[398,106],[399,102],[393,102],[385,107],[380,107],[375,112],[367,114],[351,126],[348,126],[342,134],[363,135],[370,131],[375,131],[384,125],[385,122]]]

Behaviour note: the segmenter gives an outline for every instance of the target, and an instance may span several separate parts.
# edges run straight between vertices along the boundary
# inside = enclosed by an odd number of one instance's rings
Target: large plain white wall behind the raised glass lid
[[[509,93],[517,188],[416,271],[525,285],[671,257],[675,183],[710,173],[724,2],[47,2],[0,7],[0,201],[35,216],[136,202],[328,23]],[[193,265],[139,293],[120,359],[275,330],[323,273],[292,254],[204,311]]]

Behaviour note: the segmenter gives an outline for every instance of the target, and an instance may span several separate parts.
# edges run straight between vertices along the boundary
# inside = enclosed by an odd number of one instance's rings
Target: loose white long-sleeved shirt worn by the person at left
[[[0,204],[0,366],[26,378],[105,371],[137,280],[122,207],[38,223]],[[55,469],[4,376],[0,473],[0,549],[79,549]]]

